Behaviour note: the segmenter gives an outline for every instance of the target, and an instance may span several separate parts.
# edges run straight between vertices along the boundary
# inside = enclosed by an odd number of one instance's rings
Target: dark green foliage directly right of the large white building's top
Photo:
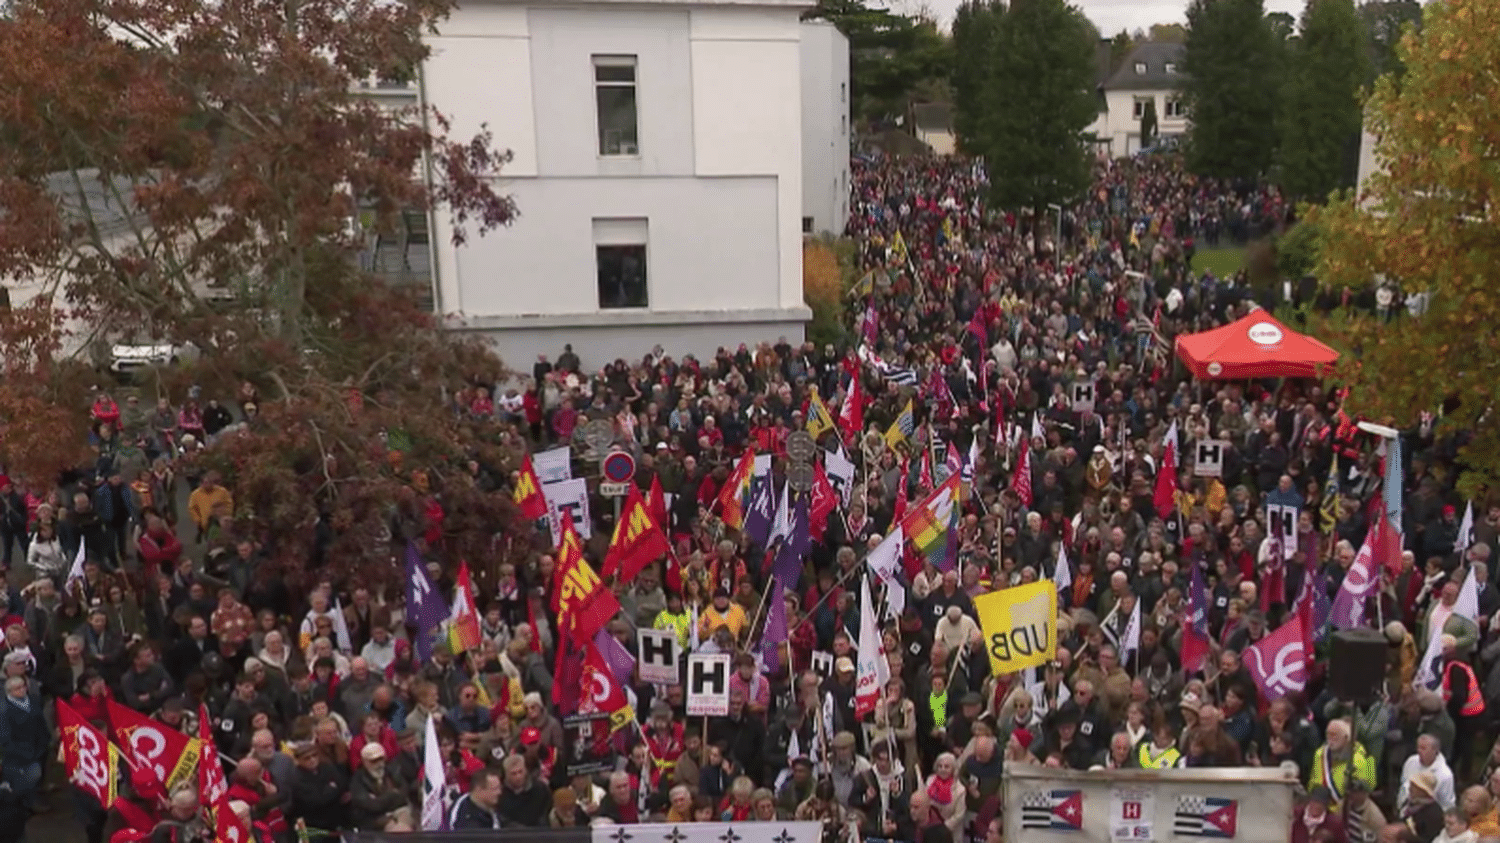
[[[886,118],[912,99],[945,100],[952,46],[938,22],[864,0],[819,0],[804,20],[825,20],[849,39],[849,98],[860,118]]]

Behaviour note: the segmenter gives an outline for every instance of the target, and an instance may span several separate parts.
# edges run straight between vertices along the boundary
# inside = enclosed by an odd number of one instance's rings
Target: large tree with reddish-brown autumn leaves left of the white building
[[[261,418],[204,459],[267,576],[316,562],[378,580],[406,537],[478,567],[500,555],[504,442],[444,404],[501,363],[354,260],[404,212],[450,214],[459,238],[516,213],[488,135],[450,140],[440,114],[354,93],[410,78],[450,6],[28,0],[0,21],[0,84],[26,92],[0,102],[0,273],[42,291],[0,322],[14,471],[45,484],[86,435],[87,380],[46,328],[140,327],[202,351],[162,387],[261,390]],[[36,390],[45,424],[21,411]]]

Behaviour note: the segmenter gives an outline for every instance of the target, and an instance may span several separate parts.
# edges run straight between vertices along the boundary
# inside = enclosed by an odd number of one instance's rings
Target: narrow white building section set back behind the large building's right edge
[[[802,234],[849,222],[849,39],[802,22]]]

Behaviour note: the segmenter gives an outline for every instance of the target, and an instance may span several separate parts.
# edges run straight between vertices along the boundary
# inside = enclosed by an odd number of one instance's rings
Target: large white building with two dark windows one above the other
[[[520,218],[454,249],[435,308],[518,368],[594,368],[802,338],[807,0],[471,0],[430,38],[423,96],[514,154]]]

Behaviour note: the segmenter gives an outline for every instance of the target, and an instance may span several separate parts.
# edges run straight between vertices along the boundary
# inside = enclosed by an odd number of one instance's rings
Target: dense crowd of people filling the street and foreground
[[[850,342],[768,340],[711,360],[566,348],[525,382],[453,393],[454,411],[494,414],[536,452],[614,423],[634,483],[664,494],[670,554],[608,584],[621,610],[604,628],[632,654],[638,627],[730,652],[728,716],[690,722],[681,682],[626,670],[636,717],[570,770],[580,735],[560,702],[578,693],[554,669],[558,554],[500,566],[476,594],[478,644],[418,662],[399,596],[357,579],[304,596],[262,582],[256,548],[222,528],[232,478],[174,474],[184,448],[254,417],[252,386],[183,408],[100,396],[92,482],[63,494],[0,477],[0,808],[70,807],[90,843],[214,837],[195,780],[168,786],[148,765],[122,762],[108,810],[78,782],[50,784],[52,702],[66,700],[105,732],[120,729],[116,706],[190,738],[210,718],[204,754],[260,840],[428,826],[429,722],[442,825],[458,830],[795,818],[831,838],[993,843],[1011,765],[1245,765],[1296,770],[1299,843],[1500,840],[1485,705],[1500,693],[1500,507],[1480,506],[1460,540],[1456,466],[1430,424],[1401,440],[1404,567],[1358,621],[1389,640],[1378,699],[1332,693],[1326,644],[1292,693],[1266,693],[1240,660],[1310,598],[1305,584],[1340,590],[1384,488],[1377,440],[1320,384],[1192,381],[1167,351],[1254,306],[1242,279],[1192,272],[1194,238],[1274,230],[1287,213],[1275,190],[1196,180],[1168,156],[1101,164],[1095,190],[1050,219],[987,208],[982,166],[962,159],[861,159],[852,189],[848,234],[878,272],[850,304]],[[1083,381],[1094,400],[1078,408]],[[854,429],[825,429],[819,404]],[[720,500],[750,448],[774,454],[778,488],[788,436],[810,423],[825,453],[856,465],[856,492],[812,536],[777,608],[790,658],[766,658],[766,548],[724,524]],[[1162,510],[1168,428],[1182,474]],[[1230,444],[1221,476],[1184,462],[1198,440]],[[876,590],[882,608],[903,590],[906,610],[880,630],[884,700],[855,717],[864,558],[950,472],[972,474],[954,552],[912,556]],[[1300,513],[1286,560],[1268,501]],[[609,507],[592,512],[584,556],[600,568],[614,525]],[[426,567],[452,597],[456,572]],[[1455,610],[1468,572],[1476,618]],[[1041,579],[1059,584],[1054,658],[992,675],[974,597]],[[1206,654],[1186,658],[1196,628]],[[1434,638],[1428,687],[1418,663]]]

